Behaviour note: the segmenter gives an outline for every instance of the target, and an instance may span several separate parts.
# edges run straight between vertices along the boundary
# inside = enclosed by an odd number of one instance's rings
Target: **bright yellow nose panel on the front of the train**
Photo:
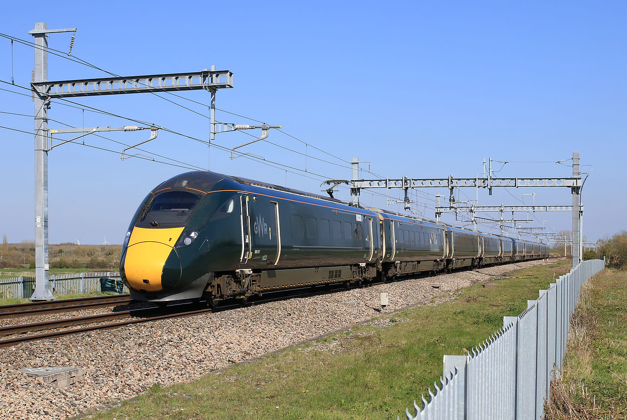
[[[183,228],[133,229],[124,259],[124,273],[132,289],[146,292],[164,289],[164,265],[182,231]],[[168,283],[170,287],[174,285]]]

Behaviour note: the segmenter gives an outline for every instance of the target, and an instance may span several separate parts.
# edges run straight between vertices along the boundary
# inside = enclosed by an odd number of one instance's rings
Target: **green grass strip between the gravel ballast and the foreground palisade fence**
[[[441,375],[444,354],[464,354],[518,315],[568,262],[475,285],[453,300],[384,315],[350,332],[149,391],[95,419],[391,419]],[[176,355],[172,355],[176,357]]]

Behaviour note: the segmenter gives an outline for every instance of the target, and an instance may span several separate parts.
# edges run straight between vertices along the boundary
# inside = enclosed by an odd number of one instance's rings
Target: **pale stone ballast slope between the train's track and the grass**
[[[389,294],[384,312],[390,313],[426,304],[438,295],[428,304],[455,299],[458,289],[540,264],[522,262],[409,279],[7,347],[0,349],[0,418],[73,417],[136,396],[155,383],[191,381],[235,362],[371,320],[380,314],[382,292]],[[434,283],[442,287],[435,289]],[[384,327],[389,320],[373,322]],[[82,367],[84,379],[65,389],[51,389],[18,371],[43,366]]]

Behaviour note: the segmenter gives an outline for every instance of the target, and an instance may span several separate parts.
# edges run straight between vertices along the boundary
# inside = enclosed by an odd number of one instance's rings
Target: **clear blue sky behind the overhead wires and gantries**
[[[268,161],[293,166],[286,174],[244,157],[231,161],[211,150],[211,170],[320,192],[322,178],[351,176],[354,156],[371,161],[382,177],[474,177],[483,158],[557,161],[581,153],[594,170],[583,190],[584,235],[596,240],[627,228],[624,168],[627,147],[627,3],[556,2],[253,2],[13,3],[0,16],[0,32],[32,40],[35,22],[76,27],[73,56],[125,76],[198,71],[212,64],[233,71],[235,88],[218,91],[217,107],[270,125],[331,153],[272,131],[269,141],[305,156],[258,143],[246,148]],[[71,34],[51,34],[50,47],[67,51]],[[28,86],[33,49],[0,38],[0,79]],[[50,56],[51,80],[104,77],[105,73]],[[26,93],[0,83],[0,88]],[[209,102],[204,91],[182,96]],[[165,95],[207,115],[204,106]],[[194,136],[209,138],[207,118],[154,95],[73,100]],[[0,91],[0,111],[33,114],[26,96]],[[53,118],[73,126],[122,126],[130,121],[53,104]],[[218,111],[218,121],[250,123]],[[33,119],[0,113],[0,125],[33,131]],[[63,128],[51,122],[51,128]],[[148,133],[105,133],[128,144]],[[0,233],[9,242],[34,238],[33,135],[0,129]],[[232,148],[252,138],[219,134]],[[88,136],[85,143],[124,146]],[[206,168],[206,145],[161,132],[145,150]],[[149,153],[140,152],[143,155]],[[320,158],[330,163],[315,160]],[[340,158],[340,159],[338,159]],[[163,160],[157,158],[157,160]],[[305,162],[307,160],[307,162]],[[343,161],[342,161],[343,160]],[[266,162],[267,163],[267,162]],[[571,162],[564,162],[569,165]],[[367,168],[367,164],[364,165]],[[501,168],[495,163],[495,170]],[[589,172],[590,166],[582,166]],[[82,145],[50,152],[50,243],[121,243],[130,217],[147,192],[185,169]],[[508,163],[503,177],[568,177],[570,166]],[[374,175],[362,173],[364,178]],[[313,178],[313,179],[312,179]],[[622,184],[621,184],[622,183]],[[377,190],[385,193],[384,190]],[[433,196],[414,195],[434,218]],[[537,193],[535,197],[522,194]],[[399,197],[400,192],[392,190]],[[459,200],[475,198],[465,188]],[[349,200],[345,188],[336,194]],[[481,205],[569,205],[566,188],[480,190]],[[386,207],[386,198],[362,195],[362,204]],[[425,206],[426,205],[426,206]],[[496,216],[494,214],[485,217]],[[518,213],[517,218],[525,217]],[[535,213],[557,231],[571,214]],[[455,222],[452,216],[445,222]],[[490,230],[491,225],[480,225]]]

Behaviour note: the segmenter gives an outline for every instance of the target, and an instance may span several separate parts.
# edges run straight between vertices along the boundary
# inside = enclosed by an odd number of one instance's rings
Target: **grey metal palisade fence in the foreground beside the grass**
[[[601,260],[582,262],[528,300],[522,314],[503,317],[503,328],[472,354],[444,356],[440,386],[429,389],[429,401],[422,397],[422,410],[414,402],[415,414],[407,410],[407,419],[542,419],[581,286],[603,268]]]

